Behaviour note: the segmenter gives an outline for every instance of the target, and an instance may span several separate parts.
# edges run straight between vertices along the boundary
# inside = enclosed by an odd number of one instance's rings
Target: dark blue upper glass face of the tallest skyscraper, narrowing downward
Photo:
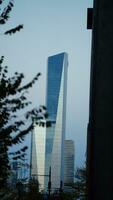
[[[46,105],[49,118],[56,121],[64,53],[48,58]]]

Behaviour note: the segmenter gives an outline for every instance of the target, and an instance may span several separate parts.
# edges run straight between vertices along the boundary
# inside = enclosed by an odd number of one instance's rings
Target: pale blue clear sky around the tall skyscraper
[[[7,25],[0,30],[0,55],[10,73],[23,72],[25,82],[41,72],[29,94],[33,106],[45,104],[48,56],[68,53],[66,138],[75,142],[75,166],[84,164],[89,110],[91,31],[87,8],[93,0],[19,0]],[[8,28],[24,24],[21,32],[3,36]]]

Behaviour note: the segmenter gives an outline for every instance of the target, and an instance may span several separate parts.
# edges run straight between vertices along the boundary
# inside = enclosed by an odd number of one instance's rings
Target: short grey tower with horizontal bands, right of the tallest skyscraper
[[[65,140],[64,145],[64,184],[74,183],[74,142]]]

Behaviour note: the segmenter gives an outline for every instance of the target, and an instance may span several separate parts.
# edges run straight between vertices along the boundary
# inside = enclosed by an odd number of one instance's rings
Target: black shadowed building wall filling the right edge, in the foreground
[[[88,200],[113,199],[113,0],[94,0]]]

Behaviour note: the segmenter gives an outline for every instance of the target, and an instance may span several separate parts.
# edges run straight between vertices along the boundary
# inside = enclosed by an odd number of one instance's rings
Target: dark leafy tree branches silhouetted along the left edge
[[[10,0],[5,8],[2,8],[5,0],[0,0],[1,14],[0,25],[4,25],[9,19],[14,1]],[[4,32],[14,34],[20,31],[23,25]],[[0,58],[0,189],[7,185],[10,173],[9,148],[23,142],[26,134],[33,129],[33,119],[36,118],[40,125],[42,118],[47,117],[46,109],[40,106],[39,109],[29,110],[30,101],[27,100],[27,92],[38,80],[38,73],[29,83],[22,85],[24,75],[15,72],[12,77],[8,75],[8,67],[3,65],[4,57]],[[21,116],[19,117],[19,115]],[[22,159],[25,153],[15,152],[14,159]]]

